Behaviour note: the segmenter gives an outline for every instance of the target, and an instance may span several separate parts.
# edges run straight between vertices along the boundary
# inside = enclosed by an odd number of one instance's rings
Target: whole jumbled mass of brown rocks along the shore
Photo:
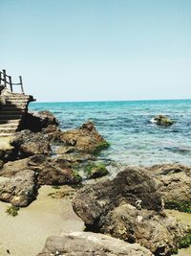
[[[164,208],[190,212],[191,168],[116,167],[112,176],[113,163],[98,158],[107,147],[91,121],[61,131],[49,111],[28,113],[9,147],[1,147],[1,201],[31,207],[39,189],[51,185],[50,196],[73,199],[85,224],[84,231],[49,237],[38,255],[168,256],[190,243],[190,227]]]

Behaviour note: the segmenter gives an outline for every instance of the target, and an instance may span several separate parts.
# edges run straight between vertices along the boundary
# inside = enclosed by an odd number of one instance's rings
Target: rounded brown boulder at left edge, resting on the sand
[[[0,183],[0,200],[15,206],[28,206],[37,194],[37,183],[34,172],[19,172],[10,180]]]

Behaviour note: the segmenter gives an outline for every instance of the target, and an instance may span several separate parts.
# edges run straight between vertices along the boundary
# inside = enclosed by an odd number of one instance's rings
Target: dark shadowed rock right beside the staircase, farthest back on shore
[[[49,126],[58,126],[58,121],[53,116],[53,113],[46,111],[28,112],[21,123],[20,129],[30,129],[33,132],[41,131]]]

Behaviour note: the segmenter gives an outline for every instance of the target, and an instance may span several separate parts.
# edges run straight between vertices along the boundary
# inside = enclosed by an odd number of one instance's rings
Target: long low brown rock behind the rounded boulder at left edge
[[[8,162],[0,175],[11,177],[25,169],[35,173],[38,185],[77,184],[81,181],[81,177],[73,171],[68,161],[43,154]]]

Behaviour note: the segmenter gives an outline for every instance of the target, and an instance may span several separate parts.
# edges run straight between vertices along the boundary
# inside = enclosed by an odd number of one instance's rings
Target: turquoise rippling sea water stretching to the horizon
[[[32,103],[31,110],[50,110],[63,130],[91,119],[111,147],[101,157],[125,164],[175,163],[191,165],[191,100]],[[176,124],[161,128],[150,122],[158,114]]]

